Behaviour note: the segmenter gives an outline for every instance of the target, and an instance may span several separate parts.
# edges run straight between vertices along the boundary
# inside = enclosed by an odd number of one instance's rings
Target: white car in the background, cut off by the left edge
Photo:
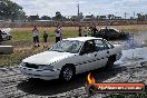
[[[10,28],[2,29],[1,31],[2,31],[2,40],[11,40],[12,35]]]

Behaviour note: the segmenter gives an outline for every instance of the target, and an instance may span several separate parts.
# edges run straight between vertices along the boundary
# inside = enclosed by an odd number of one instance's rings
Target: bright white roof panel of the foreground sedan
[[[87,41],[92,39],[102,39],[102,38],[95,38],[95,37],[77,37],[77,38],[67,38],[63,40],[78,40],[78,41]]]

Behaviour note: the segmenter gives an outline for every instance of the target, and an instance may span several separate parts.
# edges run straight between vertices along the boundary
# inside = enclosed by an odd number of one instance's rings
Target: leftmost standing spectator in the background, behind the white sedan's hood
[[[37,29],[36,26],[32,29],[32,35],[33,35],[33,43],[35,43],[35,47],[40,47],[39,46],[39,30]]]

